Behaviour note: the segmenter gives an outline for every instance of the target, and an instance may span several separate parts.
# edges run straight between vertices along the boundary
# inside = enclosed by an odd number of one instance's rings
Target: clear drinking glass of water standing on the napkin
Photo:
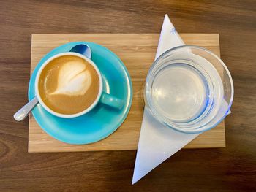
[[[217,126],[230,111],[233,80],[223,61],[203,47],[163,53],[148,72],[146,106],[165,126],[197,134]]]

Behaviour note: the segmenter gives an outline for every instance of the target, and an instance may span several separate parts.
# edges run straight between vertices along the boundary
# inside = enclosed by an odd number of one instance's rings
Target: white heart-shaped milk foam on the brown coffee
[[[86,65],[77,61],[68,61],[60,66],[57,88],[50,95],[64,94],[68,96],[81,96],[91,86],[92,78]]]

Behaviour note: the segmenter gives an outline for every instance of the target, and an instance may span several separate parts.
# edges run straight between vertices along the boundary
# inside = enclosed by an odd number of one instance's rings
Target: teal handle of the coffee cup
[[[99,99],[99,102],[101,102],[102,104],[108,105],[110,107],[116,108],[118,110],[121,110],[121,108],[124,106],[123,100],[118,99],[115,96],[112,96],[105,92],[102,92],[102,96]]]

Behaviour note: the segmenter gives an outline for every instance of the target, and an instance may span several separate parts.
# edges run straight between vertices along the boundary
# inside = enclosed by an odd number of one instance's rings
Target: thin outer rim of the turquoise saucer
[[[42,130],[45,131],[45,133],[47,133],[48,135],[50,135],[50,137],[53,137],[54,139],[57,139],[57,140],[59,140],[59,141],[61,141],[61,142],[67,143],[67,144],[72,144],[72,145],[86,145],[86,144],[90,144],[90,143],[94,143],[94,142],[99,142],[100,140],[109,137],[110,134],[113,134],[113,133],[121,126],[121,124],[124,123],[124,120],[127,118],[127,115],[129,114],[129,110],[130,110],[130,108],[131,108],[131,106],[132,106],[132,99],[133,99],[133,98],[132,98],[132,95],[133,95],[133,91],[132,91],[132,80],[131,80],[131,77],[129,76],[129,72],[128,72],[128,70],[127,70],[127,67],[124,65],[123,61],[121,61],[121,59],[120,59],[115,53],[113,53],[111,50],[109,50],[107,47],[104,47],[104,46],[99,45],[99,44],[94,43],[94,42],[83,42],[83,41],[82,41],[82,42],[67,42],[67,43],[65,43],[64,45],[60,45],[60,46],[58,46],[58,47],[53,48],[53,50],[50,50],[50,52],[48,52],[46,55],[44,55],[44,56],[40,59],[40,61],[37,63],[37,66],[34,68],[34,71],[33,71],[33,73],[31,74],[31,77],[30,77],[30,80],[29,80],[29,89],[28,89],[28,99],[29,99],[29,101],[34,98],[34,96],[31,96],[31,95],[30,95],[31,86],[32,86],[32,85],[31,85],[31,80],[32,80],[32,77],[34,77],[34,76],[37,74],[37,72],[38,72],[38,69],[39,69],[39,67],[40,67],[38,64],[41,63],[43,59],[50,57],[50,55],[51,55],[54,51],[60,49],[61,47],[65,47],[65,46],[67,46],[67,45],[69,45],[69,44],[71,44],[71,43],[72,43],[72,44],[76,44],[76,45],[78,45],[78,44],[94,44],[94,45],[97,45],[97,46],[102,47],[102,48],[104,48],[105,50],[107,50],[108,53],[110,53],[110,54],[113,55],[115,58],[117,58],[117,60],[118,60],[119,63],[121,64],[121,66],[124,68],[124,71],[125,71],[125,73],[127,74],[128,82],[129,82],[129,104],[128,104],[127,110],[124,112],[124,115],[123,115],[122,119],[115,125],[115,128],[113,128],[111,131],[109,131],[109,133],[105,134],[105,135],[102,136],[102,137],[99,137],[98,139],[95,139],[93,142],[67,142],[67,141],[65,141],[65,140],[63,140],[63,139],[59,139],[58,137],[56,137],[56,135],[50,134],[48,131],[45,130],[45,128],[43,128],[42,124],[40,123],[41,120],[37,119],[37,118],[38,118],[37,115],[34,115],[34,112],[33,112],[33,110],[32,110],[32,114],[33,114],[33,116],[34,116],[34,119],[37,121],[37,123],[38,123],[38,125],[40,126],[40,128],[42,128]],[[65,52],[66,52],[66,51],[65,51]],[[61,53],[64,53],[64,52],[61,52]],[[36,71],[36,73],[34,73],[35,71]]]

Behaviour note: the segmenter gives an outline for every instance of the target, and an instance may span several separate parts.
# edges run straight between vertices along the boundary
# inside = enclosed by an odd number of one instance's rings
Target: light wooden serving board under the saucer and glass
[[[219,55],[219,34],[181,34],[187,45],[206,47]],[[110,137],[89,145],[69,145],[50,137],[32,115],[29,118],[29,152],[93,150],[136,150],[143,118],[143,85],[154,61],[159,34],[32,34],[31,72],[53,48],[67,42],[96,42],[112,50],[127,66],[132,77],[133,100],[129,115]],[[185,148],[225,147],[225,123],[200,134]]]

